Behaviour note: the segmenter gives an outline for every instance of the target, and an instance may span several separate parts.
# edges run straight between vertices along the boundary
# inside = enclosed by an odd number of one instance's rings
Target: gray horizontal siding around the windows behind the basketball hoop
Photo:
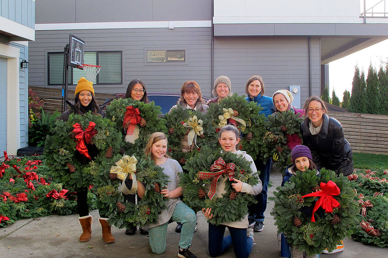
[[[56,87],[47,86],[47,52],[63,51],[70,33],[85,40],[86,51],[123,51],[123,84],[94,85],[97,92],[125,92],[131,80],[140,79],[149,92],[180,92],[185,81],[196,80],[205,96],[211,94],[211,28],[36,31],[29,43],[31,86]],[[144,48],[187,49],[188,64],[144,65]]]

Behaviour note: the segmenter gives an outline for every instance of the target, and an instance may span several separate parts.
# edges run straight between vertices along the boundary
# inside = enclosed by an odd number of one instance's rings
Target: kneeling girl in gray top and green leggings
[[[196,258],[197,256],[191,253],[189,248],[191,247],[197,217],[195,212],[178,198],[182,195],[182,186],[178,186],[180,181],[178,174],[182,173],[182,167],[178,161],[167,155],[166,135],[161,132],[152,133],[144,153],[145,155],[151,155],[151,159],[155,161],[155,164],[162,167],[164,169],[163,173],[169,177],[168,185],[160,191],[163,197],[166,197],[167,208],[161,211],[155,224],[145,225],[149,231],[151,250],[158,255],[165,251],[168,223],[177,221],[182,223],[178,257]],[[145,193],[145,187],[140,181],[137,181],[137,193],[140,198]]]

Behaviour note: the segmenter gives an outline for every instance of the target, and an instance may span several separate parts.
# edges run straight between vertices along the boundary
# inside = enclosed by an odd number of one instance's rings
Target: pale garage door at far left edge
[[[7,150],[7,59],[0,58],[0,157]]]

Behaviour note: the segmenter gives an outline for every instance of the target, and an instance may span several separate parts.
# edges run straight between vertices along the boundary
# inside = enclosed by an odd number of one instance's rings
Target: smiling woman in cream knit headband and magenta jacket
[[[283,112],[292,110],[294,114],[302,117],[305,112],[303,109],[294,108],[291,103],[294,100],[291,92],[287,90],[279,90],[272,95],[272,100],[274,101],[274,105],[277,112]],[[301,138],[298,136],[298,133],[294,133],[293,135],[287,135],[287,146],[292,150],[296,145],[302,144]]]

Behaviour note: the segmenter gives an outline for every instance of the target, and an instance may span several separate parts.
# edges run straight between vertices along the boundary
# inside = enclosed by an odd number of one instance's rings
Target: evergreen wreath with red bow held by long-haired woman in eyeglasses
[[[139,109],[140,121],[139,124],[139,138],[137,138],[133,143],[125,142],[123,151],[121,154],[126,155],[135,155],[140,157],[143,154],[143,150],[147,145],[149,137],[154,132],[163,132],[166,133],[167,129],[163,121],[159,118],[161,116],[161,111],[159,106],[155,106],[155,103],[143,103],[131,98],[128,99],[115,99],[111,102],[106,108],[106,116],[115,123],[115,128],[119,132],[123,131],[123,121],[126,113],[126,108],[128,106],[133,106],[133,108]],[[138,116],[137,116],[138,118]]]

